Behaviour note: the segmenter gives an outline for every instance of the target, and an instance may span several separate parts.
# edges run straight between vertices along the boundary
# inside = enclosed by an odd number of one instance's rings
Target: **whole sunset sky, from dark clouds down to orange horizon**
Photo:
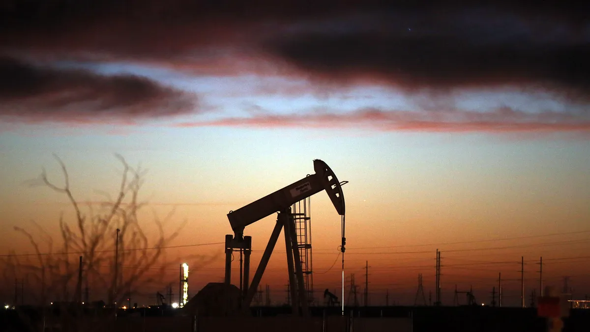
[[[113,153],[147,168],[143,220],[175,207],[171,227],[188,221],[171,246],[222,242],[228,211],[319,158],[349,181],[345,273],[362,289],[369,261],[372,302],[389,289],[413,304],[418,273],[428,297],[437,248],[444,304],[455,284],[488,303],[499,272],[504,304],[520,304],[521,256],[527,304],[540,256],[546,284],[568,275],[590,294],[588,5],[60,3],[0,15],[2,253],[31,252],[13,226],[59,237],[60,212],[72,217],[27,185],[42,167],[61,183],[52,154],[81,201],[116,193]],[[274,217],[245,230],[253,271]],[[325,193],[312,225],[315,288],[339,289]],[[191,269],[191,294],[220,281],[222,250],[168,249],[170,282],[191,255],[215,257]],[[278,243],[261,285],[278,301],[286,283]]]

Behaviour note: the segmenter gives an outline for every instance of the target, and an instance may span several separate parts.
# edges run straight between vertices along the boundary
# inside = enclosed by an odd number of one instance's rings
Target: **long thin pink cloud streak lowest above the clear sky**
[[[590,133],[590,118],[571,113],[527,113],[510,108],[493,112],[463,110],[401,111],[362,109],[350,113],[261,114],[250,118],[223,118],[207,122],[181,122],[173,126],[227,126],[244,128],[348,128],[382,132],[489,132],[489,133]]]

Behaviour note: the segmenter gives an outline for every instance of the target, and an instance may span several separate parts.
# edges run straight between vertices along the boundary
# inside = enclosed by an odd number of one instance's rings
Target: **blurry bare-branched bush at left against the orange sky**
[[[117,302],[129,298],[130,293],[140,294],[147,285],[165,285],[165,266],[161,264],[165,259],[164,249],[178,236],[185,222],[171,232],[165,232],[163,223],[171,219],[172,210],[164,220],[154,217],[157,236],[152,238],[144,232],[145,224],[140,222],[138,213],[146,203],[139,201],[138,194],[145,171],[130,167],[123,157],[116,155],[123,166],[116,196],[100,191],[104,200],[81,202],[71,191],[64,162],[57,155],[54,157],[61,167],[63,183],[50,180],[43,170],[40,178],[30,184],[45,185],[64,195],[73,209],[74,222],[67,222],[61,214],[58,223],[61,239],[57,242],[37,223],[34,223],[34,230],[15,226],[18,233],[27,237],[34,253],[17,255],[12,252],[5,256],[5,280],[12,276],[27,276],[27,288],[35,289],[30,292],[28,302],[47,306],[54,301],[55,305],[60,302],[78,308],[83,308],[80,302],[87,300],[83,292],[88,285],[93,292],[106,293],[106,307],[116,307]],[[79,256],[83,261],[81,278],[78,276]],[[203,261],[202,257],[199,258]],[[65,316],[62,313],[60,317],[63,320]],[[68,324],[76,325],[71,321]],[[84,330],[88,328],[86,326]],[[31,326],[31,329],[36,327]]]

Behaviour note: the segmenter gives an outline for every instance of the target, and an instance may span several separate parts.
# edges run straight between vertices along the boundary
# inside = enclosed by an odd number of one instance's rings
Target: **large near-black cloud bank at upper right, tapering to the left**
[[[271,53],[313,78],[380,80],[407,90],[529,86],[569,100],[590,100],[588,31],[571,21],[537,21],[517,11],[471,8],[382,12],[310,24],[271,38]],[[346,24],[346,21],[349,23]]]

